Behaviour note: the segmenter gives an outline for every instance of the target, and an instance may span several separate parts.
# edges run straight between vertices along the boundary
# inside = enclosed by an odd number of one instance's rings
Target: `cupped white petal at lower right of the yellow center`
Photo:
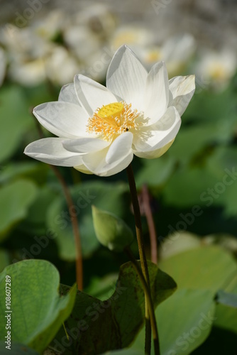
[[[133,138],[133,153],[145,158],[147,152],[156,151],[170,143],[180,129],[181,119],[175,107],[169,107],[157,124],[146,127],[143,136]]]

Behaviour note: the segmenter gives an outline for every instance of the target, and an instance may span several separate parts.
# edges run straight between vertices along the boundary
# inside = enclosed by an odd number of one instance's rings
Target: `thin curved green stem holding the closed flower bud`
[[[148,310],[149,310],[149,315],[150,315],[150,324],[151,324],[151,328],[153,329],[154,351],[155,351],[155,355],[160,355],[158,327],[157,327],[156,320],[155,320],[155,310],[153,307],[153,300],[150,295],[150,288],[148,288],[148,284],[146,283],[144,275],[143,275],[142,271],[140,270],[140,266],[138,264],[138,261],[136,261],[136,258],[134,258],[133,253],[131,252],[131,249],[127,246],[124,249],[124,251],[126,251],[126,253],[128,254],[128,257],[131,259],[131,262],[133,263],[133,268],[135,268],[136,272],[138,273],[140,281],[143,285],[143,289],[145,291],[145,296],[147,297]]]

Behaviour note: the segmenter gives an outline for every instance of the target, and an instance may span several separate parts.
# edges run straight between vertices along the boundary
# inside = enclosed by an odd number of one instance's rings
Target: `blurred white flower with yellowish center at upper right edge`
[[[203,50],[193,68],[200,81],[216,90],[225,89],[237,69],[236,51],[223,48],[221,51]]]

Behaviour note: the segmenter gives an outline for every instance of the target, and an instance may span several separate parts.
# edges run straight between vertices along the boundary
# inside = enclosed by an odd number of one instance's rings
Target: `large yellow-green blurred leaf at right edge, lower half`
[[[237,263],[231,253],[219,246],[200,246],[177,253],[161,261],[160,267],[175,278],[179,288],[207,289],[213,299],[219,290],[237,294]],[[217,304],[215,317],[216,326],[237,332],[236,308]]]

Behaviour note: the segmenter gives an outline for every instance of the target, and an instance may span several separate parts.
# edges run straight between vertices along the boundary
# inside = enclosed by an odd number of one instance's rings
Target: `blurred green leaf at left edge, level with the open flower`
[[[16,151],[34,121],[20,87],[2,87],[0,100],[0,162],[3,162]]]

